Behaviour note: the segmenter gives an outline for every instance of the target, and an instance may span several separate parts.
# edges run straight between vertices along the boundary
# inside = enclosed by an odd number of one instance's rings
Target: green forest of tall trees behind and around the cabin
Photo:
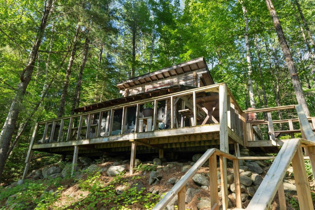
[[[0,0],[1,181],[21,175],[34,122],[120,97],[119,81],[201,56],[243,109],[297,104],[298,75],[314,116],[314,2],[273,2],[296,75],[266,2]],[[58,158],[35,152],[32,162]]]

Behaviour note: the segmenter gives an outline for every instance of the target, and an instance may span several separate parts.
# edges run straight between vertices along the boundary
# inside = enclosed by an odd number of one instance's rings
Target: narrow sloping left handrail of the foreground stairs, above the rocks
[[[162,210],[167,204],[174,198],[175,195],[186,186],[186,183],[196,174],[201,166],[209,159],[209,157],[215,153],[215,149],[208,149],[197,162],[185,173],[185,175],[180,178],[180,180],[169,190],[168,193],[153,207],[153,210]],[[216,172],[215,172],[216,173]],[[217,175],[216,175],[217,176]]]

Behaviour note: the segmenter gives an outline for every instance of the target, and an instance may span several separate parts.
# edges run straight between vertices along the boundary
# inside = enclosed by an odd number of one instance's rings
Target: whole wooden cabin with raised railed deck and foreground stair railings
[[[310,126],[315,128],[315,118],[306,118],[301,105],[242,110],[225,83],[214,83],[203,57],[122,81],[117,88],[120,98],[76,108],[71,116],[36,123],[19,184],[27,176],[34,150],[73,155],[72,171],[78,156],[130,156],[130,174],[139,155],[174,160],[189,153],[204,153],[154,209],[163,209],[176,194],[178,209],[185,209],[182,195],[186,183],[208,159],[211,205],[217,209],[216,155],[220,159],[222,207],[227,209],[226,158],[233,161],[234,171],[239,171],[240,160],[274,159],[270,176],[266,175],[248,208],[258,205],[258,209],[268,209],[277,190],[285,204],[279,183],[292,160],[300,207],[312,209],[301,147],[308,151],[309,156],[304,158],[311,160],[315,174],[315,136]],[[272,112],[283,109],[296,110],[298,118],[272,120]],[[262,112],[267,120],[256,119],[256,114]],[[277,124],[288,129],[275,131]],[[261,137],[259,126],[268,127],[266,139]],[[302,139],[294,138],[295,133],[301,133]],[[284,135],[290,136],[280,138]],[[280,156],[247,157],[240,154],[241,146]],[[238,173],[234,179],[236,206],[241,208]]]

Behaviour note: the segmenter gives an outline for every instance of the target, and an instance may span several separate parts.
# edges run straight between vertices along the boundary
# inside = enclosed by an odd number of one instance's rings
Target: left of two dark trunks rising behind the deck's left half
[[[72,65],[73,65],[75,53],[77,51],[77,42],[78,42],[78,36],[79,36],[80,29],[81,29],[81,26],[78,24],[76,32],[74,34],[74,38],[73,38],[73,45],[72,45],[72,50],[71,50],[71,54],[70,54],[70,58],[69,58],[68,67],[66,70],[65,81],[63,83],[63,89],[62,89],[62,93],[61,93],[57,118],[62,117],[63,113],[65,112],[65,104],[66,104],[66,96],[68,93],[69,79],[70,79],[70,75],[71,75],[71,70],[72,70]]]

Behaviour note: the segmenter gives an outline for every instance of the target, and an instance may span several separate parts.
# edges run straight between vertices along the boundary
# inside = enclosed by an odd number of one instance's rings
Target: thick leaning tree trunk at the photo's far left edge
[[[53,0],[48,0],[45,5],[42,21],[37,32],[35,43],[32,46],[31,52],[28,57],[28,63],[24,67],[20,75],[20,83],[16,89],[16,94],[11,103],[8,116],[3,124],[3,128],[0,134],[0,180],[2,178],[2,172],[7,157],[10,141],[14,132],[14,127],[20,113],[20,106],[23,102],[26,88],[31,81],[32,73],[34,70],[34,64],[37,58],[38,49],[42,42],[43,35],[47,26],[48,16],[52,9]]]

